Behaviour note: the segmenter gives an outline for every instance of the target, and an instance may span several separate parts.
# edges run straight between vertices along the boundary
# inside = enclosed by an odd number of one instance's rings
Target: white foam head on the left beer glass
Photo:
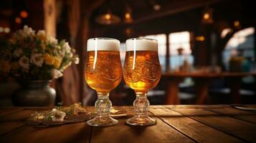
[[[108,38],[93,38],[87,40],[87,51],[120,51],[120,41]]]

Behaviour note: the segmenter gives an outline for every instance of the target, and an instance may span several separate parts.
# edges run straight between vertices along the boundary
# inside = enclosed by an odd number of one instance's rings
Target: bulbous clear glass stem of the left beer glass
[[[109,94],[98,93],[98,99],[95,102],[97,116],[109,116],[112,103],[109,99]]]

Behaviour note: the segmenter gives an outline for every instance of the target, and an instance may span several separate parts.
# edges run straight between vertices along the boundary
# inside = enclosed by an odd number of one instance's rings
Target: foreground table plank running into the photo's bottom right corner
[[[171,108],[170,108],[171,109]],[[247,142],[255,142],[256,125],[205,109],[171,109]]]

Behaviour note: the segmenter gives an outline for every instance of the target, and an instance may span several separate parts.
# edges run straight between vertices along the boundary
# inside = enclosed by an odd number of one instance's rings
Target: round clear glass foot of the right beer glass
[[[156,124],[156,120],[148,117],[148,115],[136,115],[130,119],[127,119],[126,124],[130,124],[132,126],[152,126]]]

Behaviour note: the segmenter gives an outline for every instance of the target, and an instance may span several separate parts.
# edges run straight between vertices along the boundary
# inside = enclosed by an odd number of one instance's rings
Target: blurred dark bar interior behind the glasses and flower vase
[[[80,64],[52,82],[56,103],[97,99],[84,78],[87,39],[120,40],[123,62],[125,40],[147,37],[158,40],[162,69],[148,92],[151,104],[256,104],[255,14],[249,0],[3,0],[0,39],[28,25],[75,47]],[[0,77],[1,107],[13,106],[18,87]],[[132,105],[135,97],[123,81],[110,93],[113,105]]]

